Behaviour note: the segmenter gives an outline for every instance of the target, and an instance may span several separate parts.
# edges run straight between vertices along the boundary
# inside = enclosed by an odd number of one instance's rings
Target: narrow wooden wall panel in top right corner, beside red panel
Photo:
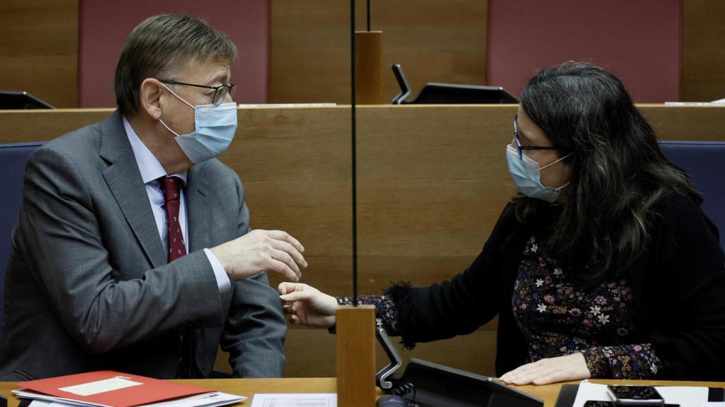
[[[682,100],[725,98],[725,2],[685,0]]]

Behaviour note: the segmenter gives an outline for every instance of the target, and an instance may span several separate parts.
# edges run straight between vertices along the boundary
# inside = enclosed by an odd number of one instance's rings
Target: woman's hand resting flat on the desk
[[[501,380],[507,385],[548,385],[569,380],[589,379],[587,360],[581,352],[567,356],[546,358],[525,364],[504,374]]]

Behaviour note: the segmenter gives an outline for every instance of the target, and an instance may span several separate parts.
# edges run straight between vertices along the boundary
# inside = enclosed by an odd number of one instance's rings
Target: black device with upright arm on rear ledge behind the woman
[[[410,86],[400,64],[392,64],[400,93],[392,104],[518,104],[518,100],[500,86],[456,85],[453,83],[426,83],[412,100]]]

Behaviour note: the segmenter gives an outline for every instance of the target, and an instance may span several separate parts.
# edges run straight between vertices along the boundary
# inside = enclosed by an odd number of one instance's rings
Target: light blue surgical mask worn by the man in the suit
[[[162,85],[164,85],[162,83]],[[174,91],[164,85],[167,91],[194,109],[194,133],[179,135],[159,119],[164,127],[176,137],[176,143],[194,164],[213,159],[222,154],[231,144],[236,133],[236,103],[200,104],[194,106],[183,100]]]

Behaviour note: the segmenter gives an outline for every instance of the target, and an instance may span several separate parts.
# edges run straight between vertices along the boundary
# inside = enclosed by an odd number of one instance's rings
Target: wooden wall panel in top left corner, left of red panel
[[[0,90],[78,106],[78,0],[0,1]]]

